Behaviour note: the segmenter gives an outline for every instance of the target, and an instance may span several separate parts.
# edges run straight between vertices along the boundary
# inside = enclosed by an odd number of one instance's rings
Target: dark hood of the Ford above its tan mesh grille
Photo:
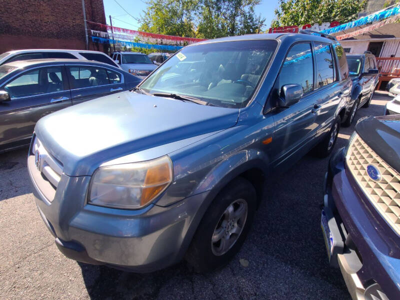
[[[359,136],[397,172],[400,172],[400,114],[367,116],[355,126]]]

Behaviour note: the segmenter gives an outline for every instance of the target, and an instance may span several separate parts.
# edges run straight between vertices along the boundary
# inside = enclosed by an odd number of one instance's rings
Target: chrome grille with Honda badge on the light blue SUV
[[[36,168],[56,188],[61,179],[62,164],[47,152],[37,137],[34,139],[32,152]]]

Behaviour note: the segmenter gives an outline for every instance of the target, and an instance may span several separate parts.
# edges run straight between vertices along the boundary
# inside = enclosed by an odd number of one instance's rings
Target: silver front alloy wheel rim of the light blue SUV
[[[247,202],[236,199],[219,217],[211,238],[211,250],[216,256],[225,254],[237,241],[247,219]]]

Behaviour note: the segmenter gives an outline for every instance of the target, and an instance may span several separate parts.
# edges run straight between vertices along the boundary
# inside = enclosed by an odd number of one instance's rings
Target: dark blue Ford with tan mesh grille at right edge
[[[400,115],[360,119],[331,156],[321,227],[353,299],[400,299]]]

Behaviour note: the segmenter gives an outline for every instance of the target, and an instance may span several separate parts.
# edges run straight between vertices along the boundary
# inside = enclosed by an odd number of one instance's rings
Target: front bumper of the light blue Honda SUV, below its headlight
[[[65,256],[135,272],[154,271],[181,260],[208,192],[167,207],[114,209],[85,203],[89,176],[62,174],[54,198],[47,199],[39,188],[45,179],[31,156],[28,171],[38,211]]]

